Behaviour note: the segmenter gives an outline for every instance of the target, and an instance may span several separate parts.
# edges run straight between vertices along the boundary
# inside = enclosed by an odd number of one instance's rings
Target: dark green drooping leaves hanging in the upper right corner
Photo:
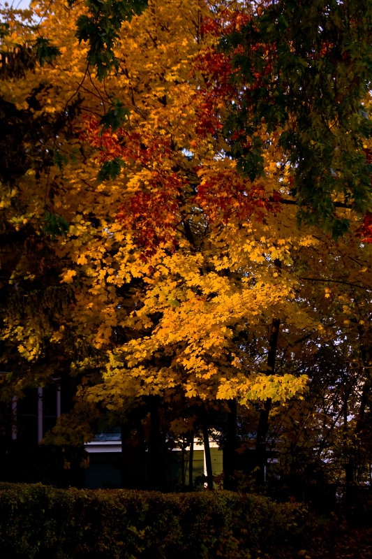
[[[281,131],[299,221],[334,236],[347,229],[334,195],[357,212],[372,205],[363,155],[372,123],[361,108],[372,81],[371,14],[371,0],[306,0],[301,10],[279,0],[221,41],[237,86],[225,133],[238,170],[253,180],[263,153],[242,147],[242,133],[254,138],[262,123]]]

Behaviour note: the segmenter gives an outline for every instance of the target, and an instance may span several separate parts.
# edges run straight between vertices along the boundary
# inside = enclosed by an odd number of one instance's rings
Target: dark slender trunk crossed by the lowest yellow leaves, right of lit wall
[[[269,354],[267,356],[267,366],[269,374],[275,371],[276,348],[278,346],[279,319],[273,319],[271,324],[271,333],[269,337]],[[263,487],[266,481],[267,453],[266,440],[267,431],[269,430],[269,414],[271,409],[271,398],[267,398],[264,406],[260,411],[260,419],[258,420],[257,438],[255,442],[256,455],[256,483],[258,487]]]

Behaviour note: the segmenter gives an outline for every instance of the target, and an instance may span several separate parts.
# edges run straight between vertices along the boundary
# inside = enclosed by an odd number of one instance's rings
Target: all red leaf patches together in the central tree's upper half
[[[218,37],[222,32],[239,29],[250,20],[251,15],[246,13],[224,10],[217,19],[204,19],[201,33]],[[216,41],[212,39],[212,42]],[[182,139],[177,146],[177,141],[174,142],[170,133],[161,127],[166,122],[163,118],[165,108],[161,108],[161,115],[157,112],[151,115],[152,125],[140,121],[141,126],[136,128],[134,119],[114,132],[111,129],[103,131],[96,117],[83,120],[80,136],[98,150],[96,159],[101,164],[115,158],[123,162],[121,174],[112,177],[116,187],[122,185],[123,192],[116,217],[125,230],[131,231],[137,246],[142,247],[144,258],[153,254],[159,245],[165,245],[167,249],[177,246],[184,211],[192,216],[195,207],[198,211],[202,209],[205,222],[221,224],[230,219],[262,220],[266,212],[276,211],[278,207],[274,198],[265,196],[262,186],[235,173],[229,162],[221,169],[211,162],[214,159],[213,143],[217,140],[218,144],[217,136],[223,128],[226,108],[232,102],[239,103],[241,96],[246,101],[249,92],[240,92],[232,80],[235,70],[231,57],[211,47],[208,38],[206,43],[206,48],[194,59],[189,76],[196,83],[193,95],[186,103],[182,101],[182,122],[187,123],[189,134],[185,136],[186,143],[189,142],[185,149],[193,150],[196,165],[200,163],[200,154],[207,160],[204,168],[202,162],[199,182],[193,184],[193,188],[185,175],[191,173],[195,177],[199,171],[196,166],[183,167],[181,147],[185,147],[185,140]],[[258,75],[257,80],[260,82],[262,75]],[[189,113],[188,107],[192,108]],[[151,110],[156,111],[156,108]],[[172,122],[172,107],[169,110]],[[208,138],[207,142],[204,138]],[[244,136],[242,141],[246,142],[248,138]],[[210,143],[212,147],[209,147]]]

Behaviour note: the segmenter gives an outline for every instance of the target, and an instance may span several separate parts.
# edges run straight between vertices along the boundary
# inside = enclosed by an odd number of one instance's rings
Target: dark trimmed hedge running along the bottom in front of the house
[[[0,484],[3,559],[274,557],[304,545],[308,518],[300,504],[227,491]]]

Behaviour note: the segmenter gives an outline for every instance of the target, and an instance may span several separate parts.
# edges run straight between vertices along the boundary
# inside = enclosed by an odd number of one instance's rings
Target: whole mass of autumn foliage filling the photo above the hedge
[[[365,483],[370,3],[145,4],[1,12],[8,424],[60,385],[46,440],[119,425],[136,483],[212,433],[226,487],[252,440],[258,486],[269,446],[291,488]]]

